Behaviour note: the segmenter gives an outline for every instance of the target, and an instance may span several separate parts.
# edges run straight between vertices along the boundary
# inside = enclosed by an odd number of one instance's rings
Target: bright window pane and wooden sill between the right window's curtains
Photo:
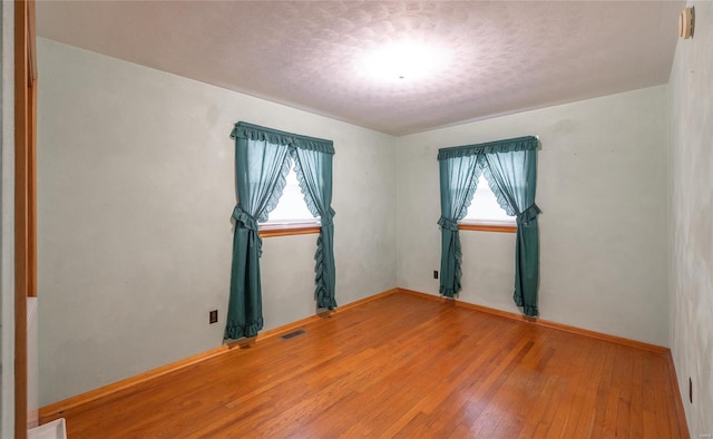
[[[466,217],[458,228],[467,231],[516,232],[515,216],[509,216],[498,204],[485,175],[478,179],[478,189],[472,197]]]

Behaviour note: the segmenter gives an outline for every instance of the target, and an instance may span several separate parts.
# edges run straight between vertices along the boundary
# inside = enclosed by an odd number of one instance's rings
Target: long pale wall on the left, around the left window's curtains
[[[334,142],[338,303],[395,286],[391,136],[49,40],[38,62],[42,406],[222,343],[238,120]],[[315,243],[264,240],[265,329],[314,314]]]

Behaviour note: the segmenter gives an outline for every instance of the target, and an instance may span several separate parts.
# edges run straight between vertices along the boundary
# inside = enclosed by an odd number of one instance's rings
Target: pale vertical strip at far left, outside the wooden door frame
[[[0,3],[0,437],[14,435],[14,3]]]

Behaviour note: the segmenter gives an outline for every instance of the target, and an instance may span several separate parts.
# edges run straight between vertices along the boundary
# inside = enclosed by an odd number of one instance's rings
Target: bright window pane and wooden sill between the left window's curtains
[[[260,224],[260,235],[267,237],[319,232],[320,217],[310,213],[293,165],[277,206],[270,213],[267,221]]]

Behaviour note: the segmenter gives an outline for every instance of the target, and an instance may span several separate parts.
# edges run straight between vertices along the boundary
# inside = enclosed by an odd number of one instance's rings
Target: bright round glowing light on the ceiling
[[[378,81],[413,81],[441,71],[448,59],[448,51],[433,45],[402,40],[367,53],[362,68]]]

